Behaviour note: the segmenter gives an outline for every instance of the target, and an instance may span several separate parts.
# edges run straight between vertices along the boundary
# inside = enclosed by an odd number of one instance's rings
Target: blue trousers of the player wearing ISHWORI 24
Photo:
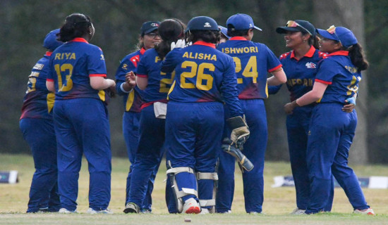
[[[264,200],[264,158],[267,148],[267,115],[262,99],[240,100],[250,137],[244,144],[243,154],[253,163],[250,172],[243,172],[243,186],[246,212],[262,212]],[[229,117],[226,112],[226,118]],[[230,137],[231,131],[227,131]],[[220,151],[221,148],[219,148]],[[228,153],[219,155],[219,185],[217,192],[217,212],[231,210],[234,197],[234,169],[236,160]]]

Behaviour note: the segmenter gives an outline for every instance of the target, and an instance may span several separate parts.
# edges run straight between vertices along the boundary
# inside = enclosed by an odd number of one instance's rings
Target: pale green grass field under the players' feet
[[[168,214],[164,202],[165,172],[162,166],[154,184],[153,214],[124,214],[126,176],[129,162],[125,158],[112,161],[111,203],[115,214],[85,214],[88,208],[89,178],[87,162],[83,161],[78,193],[78,214],[25,214],[28,192],[34,172],[32,156],[0,154],[0,170],[18,170],[18,184],[0,184],[0,224],[388,224],[388,189],[363,189],[375,217],[352,214],[341,188],[335,189],[332,213],[291,216],[295,207],[294,188],[272,188],[274,176],[291,174],[289,163],[265,163],[264,215],[246,214],[243,202],[241,172],[236,169],[236,191],[232,214]],[[358,176],[387,176],[388,166],[353,166]],[[184,219],[190,218],[191,222]]]

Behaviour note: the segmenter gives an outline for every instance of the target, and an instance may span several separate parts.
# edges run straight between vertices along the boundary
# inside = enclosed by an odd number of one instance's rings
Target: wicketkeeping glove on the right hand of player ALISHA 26
[[[243,150],[243,144],[249,138],[249,127],[245,123],[243,117],[231,117],[226,120],[231,131],[231,141],[233,141],[236,148]]]

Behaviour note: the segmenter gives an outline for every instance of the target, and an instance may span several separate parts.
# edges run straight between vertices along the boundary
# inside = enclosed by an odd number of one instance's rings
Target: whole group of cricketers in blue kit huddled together
[[[264,100],[286,84],[297,206],[291,214],[330,212],[335,177],[354,213],[374,215],[348,167],[358,83],[368,68],[353,32],[289,20],[276,32],[291,51],[278,58],[251,41],[255,30],[261,31],[241,13],[225,27],[207,16],[187,25],[176,18],[143,23],[138,51],[121,60],[114,81],[106,78],[102,50],[89,43],[95,34],[90,18],[68,15],[44,39],[48,51],[32,68],[23,101],[20,129],[36,168],[27,212],[77,212],[85,155],[87,213],[113,213],[107,104],[118,94],[131,162],[123,212],[152,212],[154,179],[166,155],[169,213],[231,213],[236,161],[245,212],[262,213]]]

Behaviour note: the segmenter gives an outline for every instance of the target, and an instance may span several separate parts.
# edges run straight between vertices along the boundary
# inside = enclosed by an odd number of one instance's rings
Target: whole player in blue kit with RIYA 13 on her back
[[[60,213],[76,212],[82,156],[90,174],[87,213],[112,213],[111,145],[104,89],[116,83],[107,77],[102,50],[89,44],[95,27],[87,15],[66,17],[59,40],[66,42],[52,53],[47,89],[55,91],[54,129],[58,145]]]

